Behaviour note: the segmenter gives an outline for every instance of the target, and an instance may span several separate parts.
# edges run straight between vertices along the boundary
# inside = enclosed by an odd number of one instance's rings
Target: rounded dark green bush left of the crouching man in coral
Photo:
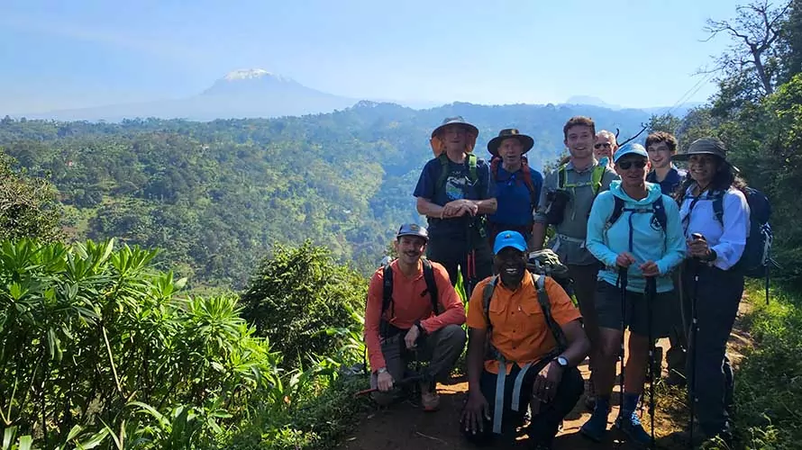
[[[337,266],[330,250],[305,241],[301,247],[276,247],[251,278],[240,304],[242,317],[259,336],[284,355],[284,367],[310,363],[339,346],[340,329],[363,311],[367,283],[358,273]]]

